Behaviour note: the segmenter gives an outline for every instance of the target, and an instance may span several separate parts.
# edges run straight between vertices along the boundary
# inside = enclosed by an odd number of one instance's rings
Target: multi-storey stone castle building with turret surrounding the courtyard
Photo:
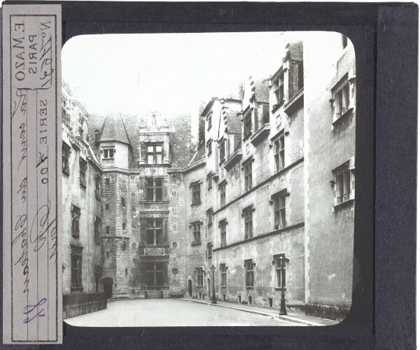
[[[243,96],[191,116],[190,147],[159,113],[134,131],[106,116],[89,137],[63,83],[64,293],[211,298],[214,265],[219,300],[346,316],[355,57],[341,34],[307,38]]]

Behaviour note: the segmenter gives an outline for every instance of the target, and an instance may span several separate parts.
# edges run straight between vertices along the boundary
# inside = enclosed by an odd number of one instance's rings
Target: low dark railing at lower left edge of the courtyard
[[[63,319],[106,309],[105,293],[63,294]]]

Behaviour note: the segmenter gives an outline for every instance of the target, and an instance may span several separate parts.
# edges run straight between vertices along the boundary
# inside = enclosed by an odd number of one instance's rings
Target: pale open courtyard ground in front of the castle
[[[174,299],[112,301],[106,310],[68,318],[64,322],[77,327],[300,325],[270,316]]]

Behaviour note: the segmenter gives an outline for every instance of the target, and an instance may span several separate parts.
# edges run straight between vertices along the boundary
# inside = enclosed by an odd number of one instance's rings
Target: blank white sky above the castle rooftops
[[[62,78],[89,113],[190,112],[268,78],[299,32],[76,36],[62,49]],[[78,88],[78,89],[76,89]]]

